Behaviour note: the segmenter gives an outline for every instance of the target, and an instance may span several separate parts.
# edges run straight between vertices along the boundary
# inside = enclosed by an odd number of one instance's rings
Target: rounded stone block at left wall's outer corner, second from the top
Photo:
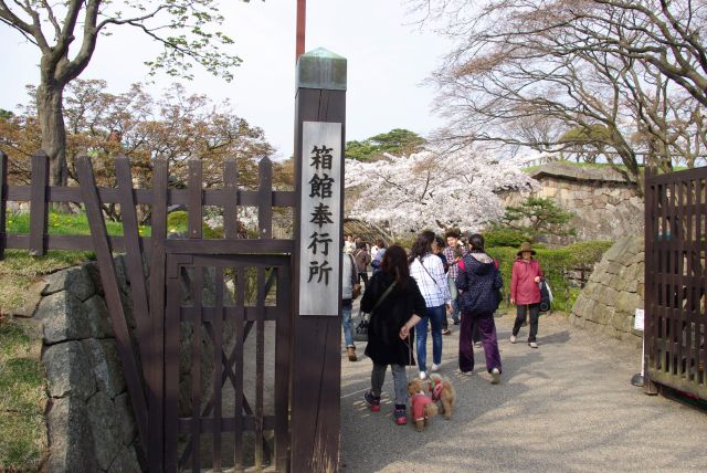
[[[44,343],[80,340],[91,336],[86,307],[73,293],[62,291],[42,299],[34,317],[44,324]]]

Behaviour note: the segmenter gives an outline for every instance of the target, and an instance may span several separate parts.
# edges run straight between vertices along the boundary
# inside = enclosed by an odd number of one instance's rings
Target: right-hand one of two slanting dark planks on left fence
[[[133,314],[136,322],[136,335],[140,349],[140,359],[149,358],[149,306],[147,302],[147,286],[145,284],[145,271],[143,266],[143,246],[140,245],[139,225],[135,210],[133,195],[133,177],[130,174],[130,160],[125,156],[115,159],[115,174],[118,190],[120,190],[120,216],[123,218],[123,234],[125,239],[127,273],[130,281],[130,298],[133,299]],[[148,370],[143,365],[143,377],[147,379]],[[157,425],[148,425],[150,429]]]

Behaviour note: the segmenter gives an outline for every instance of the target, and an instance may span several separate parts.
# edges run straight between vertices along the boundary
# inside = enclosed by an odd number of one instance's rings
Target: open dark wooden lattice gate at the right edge
[[[646,390],[707,399],[707,168],[645,178]]]

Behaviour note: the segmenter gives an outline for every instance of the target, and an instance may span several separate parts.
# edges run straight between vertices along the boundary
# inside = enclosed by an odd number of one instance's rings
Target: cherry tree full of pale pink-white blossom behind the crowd
[[[452,225],[481,230],[504,214],[499,193],[536,188],[520,169],[481,148],[346,160],[348,217],[377,223],[393,236]]]

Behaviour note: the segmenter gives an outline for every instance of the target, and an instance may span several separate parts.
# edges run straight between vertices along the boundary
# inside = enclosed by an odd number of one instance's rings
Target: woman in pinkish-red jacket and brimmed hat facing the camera
[[[510,303],[516,304],[516,322],[513,326],[510,343],[515,344],[520,332],[520,326],[526,319],[526,314],[530,313],[530,334],[528,345],[530,348],[538,348],[536,336],[538,335],[538,316],[540,315],[540,288],[538,283],[542,281],[542,270],[540,263],[532,257],[535,250],[529,242],[520,245],[517,260],[513,264],[513,275],[510,277]]]

